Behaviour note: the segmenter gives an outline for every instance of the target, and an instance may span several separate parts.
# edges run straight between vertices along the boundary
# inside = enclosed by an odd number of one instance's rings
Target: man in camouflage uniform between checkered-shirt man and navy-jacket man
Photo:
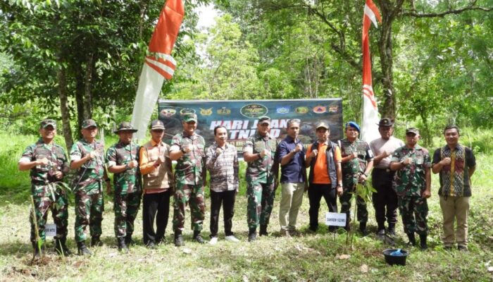
[[[277,140],[269,135],[270,118],[258,118],[255,135],[249,137],[243,146],[243,159],[246,167],[246,207],[249,234],[248,240],[256,240],[256,228],[260,224],[259,235],[268,235],[267,226],[272,212],[279,176],[279,162],[276,157]]]

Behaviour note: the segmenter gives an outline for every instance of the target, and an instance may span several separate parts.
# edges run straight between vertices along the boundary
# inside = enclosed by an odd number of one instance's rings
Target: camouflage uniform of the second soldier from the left
[[[104,178],[104,145],[94,140],[86,142],[83,138],[70,149],[70,161],[81,159],[92,151],[97,156],[87,161],[77,170],[74,177],[75,192],[75,241],[86,239],[86,228],[89,226],[91,236],[99,237],[103,220],[103,178]]]

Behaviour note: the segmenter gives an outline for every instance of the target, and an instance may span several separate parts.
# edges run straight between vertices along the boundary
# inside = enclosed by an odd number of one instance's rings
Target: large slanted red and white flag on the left
[[[164,80],[170,80],[175,73],[176,62],[171,56],[176,37],[182,25],[185,8],[182,0],[168,0],[159,16],[158,24],[149,43],[149,56],[146,56],[139,87],[132,112],[132,125],[137,130],[135,137],[144,139],[147,125],[154,106],[158,101]]]

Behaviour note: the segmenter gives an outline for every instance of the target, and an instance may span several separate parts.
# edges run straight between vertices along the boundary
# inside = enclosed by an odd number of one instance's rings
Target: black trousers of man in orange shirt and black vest
[[[331,184],[313,184],[310,183],[308,188],[308,202],[310,202],[310,229],[318,228],[318,209],[320,209],[320,200],[325,199],[329,212],[337,212],[337,191],[332,188]],[[329,230],[335,230],[335,226],[330,226]]]

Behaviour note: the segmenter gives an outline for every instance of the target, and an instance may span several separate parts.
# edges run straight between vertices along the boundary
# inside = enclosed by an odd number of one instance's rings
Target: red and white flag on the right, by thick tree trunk
[[[382,23],[378,8],[372,0],[366,0],[365,12],[363,14],[363,122],[361,126],[361,139],[366,142],[380,137],[377,123],[380,121],[380,115],[377,109],[377,100],[373,93],[371,78],[371,58],[370,58],[370,39],[368,30],[371,23],[378,27],[378,22]]]

